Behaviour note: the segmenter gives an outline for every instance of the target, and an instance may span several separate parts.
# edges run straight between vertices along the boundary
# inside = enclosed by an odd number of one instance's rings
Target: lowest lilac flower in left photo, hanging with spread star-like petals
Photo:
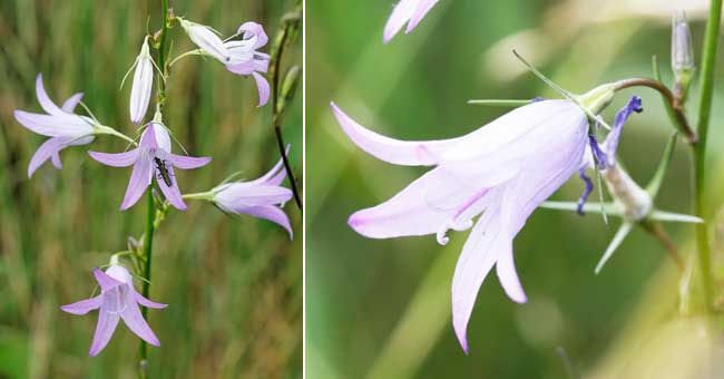
[[[79,315],[98,310],[98,324],[88,354],[95,357],[106,348],[120,319],[140,339],[153,346],[160,346],[158,338],[144,320],[138,304],[153,309],[164,309],[168,305],[153,302],[136,292],[133,276],[121,265],[111,265],[106,272],[94,269],[94,275],[100,285],[99,295],[60,307],[65,312]]]

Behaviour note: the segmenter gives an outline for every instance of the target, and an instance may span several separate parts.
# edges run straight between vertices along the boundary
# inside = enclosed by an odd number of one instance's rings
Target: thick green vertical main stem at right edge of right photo
[[[710,117],[712,115],[712,99],[714,95],[714,69],[716,65],[716,48],[718,45],[718,29],[722,20],[722,0],[712,0],[706,35],[704,37],[704,52],[702,55],[701,91],[698,107],[698,143],[694,145],[694,194],[695,213],[705,222],[696,226],[696,243],[698,252],[698,266],[702,272],[704,298],[708,310],[713,308],[714,279],[712,274],[712,256],[708,245],[708,230],[706,210],[708,204],[705,196],[705,167],[706,167],[706,139],[708,135]]]

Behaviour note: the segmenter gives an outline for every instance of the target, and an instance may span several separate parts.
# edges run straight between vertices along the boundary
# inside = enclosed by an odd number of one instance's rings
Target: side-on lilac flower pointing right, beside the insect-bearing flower
[[[222,183],[207,193],[188,194],[184,197],[207,200],[226,213],[268,220],[284,227],[292,239],[292,225],[281,208],[293,196],[292,191],[281,186],[285,177],[283,161],[280,159],[268,173],[257,179]]]

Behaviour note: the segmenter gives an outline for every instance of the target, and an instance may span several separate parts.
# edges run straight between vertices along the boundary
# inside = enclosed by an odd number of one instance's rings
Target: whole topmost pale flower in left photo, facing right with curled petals
[[[226,69],[236,75],[252,76],[258,89],[258,107],[268,101],[271,88],[268,81],[258,72],[268,70],[270,56],[257,51],[268,42],[264,28],[256,22],[245,22],[236,35],[227,40],[222,40],[217,32],[196,22],[179,19],[182,27],[188,33],[202,54],[209,55],[226,66]],[[242,39],[234,38],[241,36]]]

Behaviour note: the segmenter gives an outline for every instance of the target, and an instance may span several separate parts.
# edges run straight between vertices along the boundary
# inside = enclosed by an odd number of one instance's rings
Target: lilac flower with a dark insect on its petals
[[[212,161],[211,157],[190,157],[176,155],[172,152],[170,137],[166,127],[153,122],[148,124],[140,137],[138,147],[118,154],[88,152],[90,156],[108,166],[127,167],[134,171],[128,181],[128,188],[120,210],[125,211],[138,202],[154,177],[166,200],[176,208],[185,210],[186,204],[180,196],[174,167],[180,169],[198,168]]]

